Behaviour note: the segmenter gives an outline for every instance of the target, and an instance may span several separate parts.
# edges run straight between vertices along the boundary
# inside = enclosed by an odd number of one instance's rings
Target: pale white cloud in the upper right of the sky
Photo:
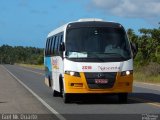
[[[121,17],[160,17],[160,0],[91,0],[92,6]]]

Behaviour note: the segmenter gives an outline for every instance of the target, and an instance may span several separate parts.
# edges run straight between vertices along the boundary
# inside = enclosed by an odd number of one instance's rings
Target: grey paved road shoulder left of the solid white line
[[[0,65],[0,113],[50,114],[50,111]]]

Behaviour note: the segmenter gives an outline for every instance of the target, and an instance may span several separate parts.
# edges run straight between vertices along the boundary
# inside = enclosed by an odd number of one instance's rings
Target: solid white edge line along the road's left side
[[[66,120],[60,113],[55,109],[49,106],[41,97],[39,97],[35,92],[33,92],[27,85],[25,85],[20,79],[13,75],[7,68],[2,66],[12,77],[14,77],[23,87],[25,87],[33,96],[35,96],[45,107],[47,107],[54,115],[57,116],[60,120]]]

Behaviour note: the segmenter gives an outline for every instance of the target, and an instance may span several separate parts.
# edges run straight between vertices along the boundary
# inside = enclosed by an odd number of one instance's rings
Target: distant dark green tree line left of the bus
[[[8,46],[0,47],[1,64],[43,64],[43,49],[35,47]]]

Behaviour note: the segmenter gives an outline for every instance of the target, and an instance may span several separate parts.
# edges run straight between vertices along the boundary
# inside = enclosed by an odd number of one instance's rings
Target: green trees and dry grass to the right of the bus
[[[141,82],[160,83],[160,28],[140,29],[136,35],[128,29],[129,39],[138,46],[134,60],[134,79]]]

